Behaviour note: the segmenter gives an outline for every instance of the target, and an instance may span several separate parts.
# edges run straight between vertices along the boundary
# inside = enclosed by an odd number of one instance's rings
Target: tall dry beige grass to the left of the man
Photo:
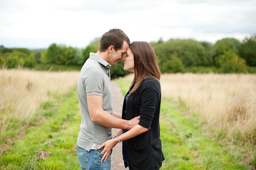
[[[6,132],[9,121],[29,121],[43,101],[76,86],[78,77],[78,71],[0,69],[0,136]]]

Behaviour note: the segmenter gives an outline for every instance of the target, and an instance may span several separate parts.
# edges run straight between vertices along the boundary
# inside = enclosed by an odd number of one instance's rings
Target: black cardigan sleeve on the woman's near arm
[[[157,80],[154,78],[147,78],[142,82],[139,125],[147,129],[150,129],[160,95],[160,88],[155,81]]]

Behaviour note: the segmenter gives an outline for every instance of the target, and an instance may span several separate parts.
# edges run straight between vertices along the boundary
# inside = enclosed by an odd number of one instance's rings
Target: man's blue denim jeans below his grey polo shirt
[[[103,147],[104,148],[104,147]],[[101,153],[103,148],[99,150],[90,150],[89,152],[77,146],[77,156],[79,165],[82,170],[110,170],[111,159],[108,158],[105,162],[100,160],[104,153]],[[112,150],[111,150],[112,153]]]

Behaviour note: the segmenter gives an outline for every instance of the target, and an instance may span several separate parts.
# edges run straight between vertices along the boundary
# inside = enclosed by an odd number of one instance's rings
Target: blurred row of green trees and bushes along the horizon
[[[82,66],[90,52],[96,52],[100,37],[96,37],[86,48],[79,49],[66,45],[51,44],[47,49],[29,50],[26,48],[5,48],[0,46],[0,65],[14,68],[17,65],[35,68],[38,64]],[[193,39],[160,38],[150,42],[157,55],[162,73],[183,73],[189,68],[212,68],[218,73],[254,73],[256,72],[256,35],[239,41],[235,38],[223,38],[212,44]],[[200,69],[199,69],[200,70]],[[193,72],[190,70],[190,72]],[[200,71],[199,71],[200,72]],[[111,76],[128,74],[119,61],[111,68]]]

